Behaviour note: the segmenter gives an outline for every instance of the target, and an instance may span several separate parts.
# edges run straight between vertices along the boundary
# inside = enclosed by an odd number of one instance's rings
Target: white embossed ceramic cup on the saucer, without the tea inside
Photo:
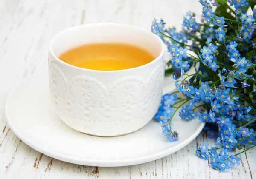
[[[136,45],[155,60],[136,68],[98,71],[58,56],[87,43]],[[55,111],[71,128],[95,136],[119,136],[146,125],[157,112],[164,78],[164,45],[157,35],[113,23],[81,25],[57,34],[49,45],[49,88]]]

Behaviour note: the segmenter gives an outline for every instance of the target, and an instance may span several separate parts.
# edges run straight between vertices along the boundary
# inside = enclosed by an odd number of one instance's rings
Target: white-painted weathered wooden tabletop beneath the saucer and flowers
[[[241,166],[220,173],[195,155],[202,132],[185,148],[140,165],[101,168],[52,159],[23,143],[6,124],[4,104],[21,80],[47,69],[48,44],[59,31],[82,23],[118,22],[150,30],[154,17],[178,29],[186,11],[201,14],[197,0],[0,0],[0,179],[256,178],[256,150]]]

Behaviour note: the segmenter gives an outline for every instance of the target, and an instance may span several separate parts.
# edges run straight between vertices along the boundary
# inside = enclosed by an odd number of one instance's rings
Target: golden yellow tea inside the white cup
[[[72,48],[59,59],[80,68],[124,70],[145,65],[155,57],[143,48],[123,43],[91,43]]]

